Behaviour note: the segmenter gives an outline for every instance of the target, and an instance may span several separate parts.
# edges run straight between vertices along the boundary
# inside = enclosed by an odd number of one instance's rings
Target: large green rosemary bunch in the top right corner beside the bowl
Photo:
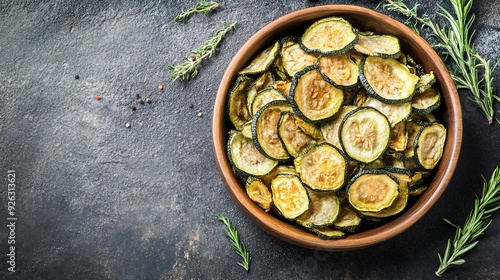
[[[454,66],[449,66],[448,70],[457,88],[470,91],[470,100],[489,124],[494,120],[500,122],[495,117],[494,109],[494,104],[500,102],[500,97],[496,95],[492,76],[500,61],[491,65],[489,60],[478,54],[472,44],[474,32],[471,32],[471,27],[475,20],[475,15],[471,14],[473,1],[450,0],[450,3],[455,16],[438,4],[441,10],[438,15],[447,21],[449,27],[440,27],[427,15],[419,16],[418,4],[410,9],[403,0],[385,0],[383,7],[406,16],[406,23],[409,25],[413,20],[411,27],[417,32],[419,24],[429,28],[438,41],[436,47],[443,49],[445,57],[450,57],[454,62]]]

